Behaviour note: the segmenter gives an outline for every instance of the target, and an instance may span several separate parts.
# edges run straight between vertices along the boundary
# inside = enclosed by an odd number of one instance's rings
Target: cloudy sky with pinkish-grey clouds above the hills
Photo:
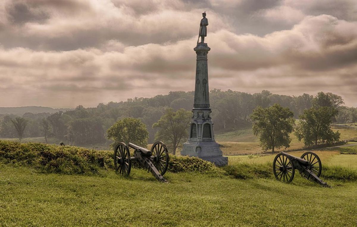
[[[356,0],[1,0],[0,106],[193,90],[203,11],[210,89],[357,106]]]

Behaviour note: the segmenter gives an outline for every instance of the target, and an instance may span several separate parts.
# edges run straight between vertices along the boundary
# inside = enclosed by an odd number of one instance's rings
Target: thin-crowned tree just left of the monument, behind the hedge
[[[188,138],[188,127],[190,126],[192,113],[185,109],[167,108],[164,115],[152,128],[158,128],[155,140],[161,140],[176,155],[176,149]]]

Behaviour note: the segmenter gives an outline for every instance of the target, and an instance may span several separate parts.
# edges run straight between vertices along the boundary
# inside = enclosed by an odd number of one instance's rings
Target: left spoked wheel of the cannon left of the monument
[[[129,176],[131,170],[130,152],[125,143],[118,143],[114,148],[115,171]]]

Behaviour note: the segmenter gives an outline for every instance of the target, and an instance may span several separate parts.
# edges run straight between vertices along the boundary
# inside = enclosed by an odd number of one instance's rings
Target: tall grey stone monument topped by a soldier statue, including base
[[[196,156],[215,163],[217,166],[228,164],[228,157],[222,156],[220,144],[215,141],[213,123],[211,120],[210,97],[208,93],[207,54],[211,48],[205,43],[208,19],[206,12],[202,13],[197,46],[193,48],[196,58],[195,100],[192,109],[192,121],[188,141],[183,144],[181,155]],[[198,43],[201,37],[201,42]]]

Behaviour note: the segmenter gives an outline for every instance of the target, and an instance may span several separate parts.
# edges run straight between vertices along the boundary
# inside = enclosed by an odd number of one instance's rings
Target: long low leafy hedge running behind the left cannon
[[[112,155],[111,150],[0,140],[1,161],[23,164],[45,173],[93,174],[99,173],[100,169],[114,169]],[[135,162],[132,164],[138,166]],[[168,171],[223,173],[211,162],[200,158],[173,155],[170,155]]]

